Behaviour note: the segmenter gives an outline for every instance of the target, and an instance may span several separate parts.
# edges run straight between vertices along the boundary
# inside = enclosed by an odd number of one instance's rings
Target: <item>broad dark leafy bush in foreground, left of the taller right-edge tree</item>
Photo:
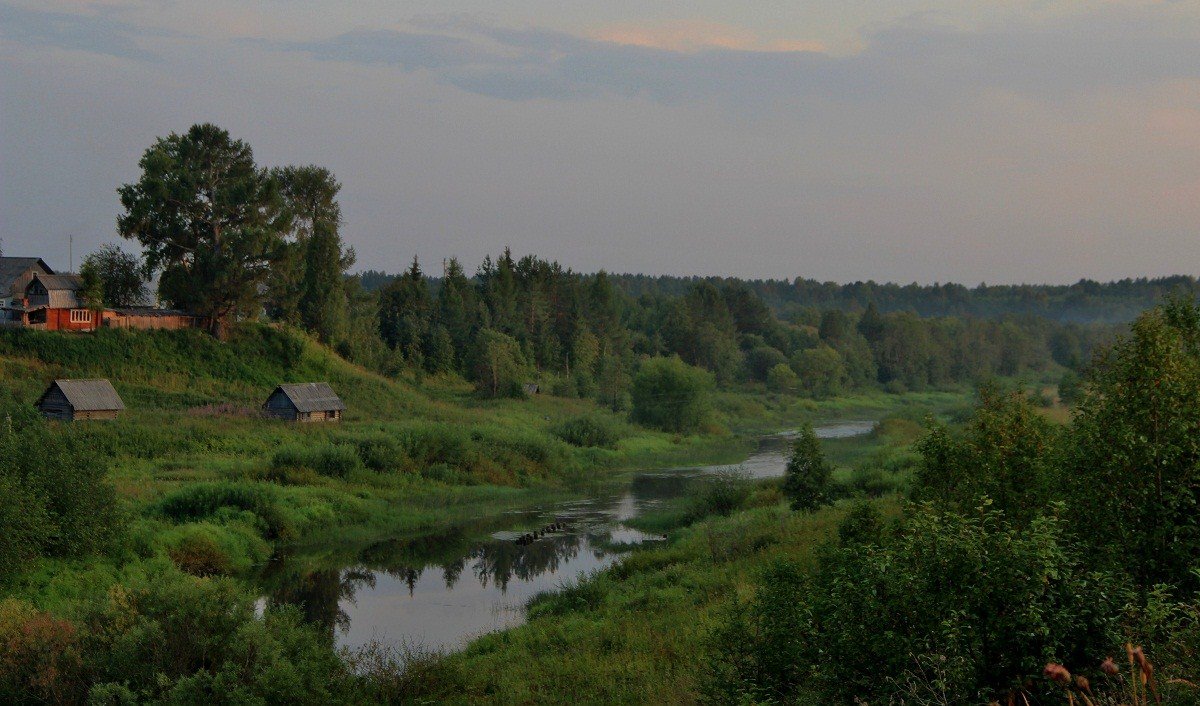
[[[922,505],[863,542],[869,525],[856,517],[846,533],[858,537],[827,548],[811,579],[770,573],[730,609],[714,684],[780,702],[900,702],[934,686],[937,702],[1004,702],[1046,662],[1090,664],[1097,645],[1120,644],[1129,593],[1088,570],[1052,516],[1013,525]]]

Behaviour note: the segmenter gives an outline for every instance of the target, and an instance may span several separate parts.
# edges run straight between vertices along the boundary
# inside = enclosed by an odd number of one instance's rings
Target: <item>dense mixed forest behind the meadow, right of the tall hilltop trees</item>
[[[367,271],[356,279],[367,295],[378,297],[392,365],[458,371],[481,388],[500,377],[512,389],[520,375],[535,376],[554,394],[617,408],[638,361],[655,357],[677,355],[722,385],[763,383],[821,397],[875,385],[904,391],[972,383],[1055,365],[1080,369],[1123,329],[1106,323],[1117,316],[1076,323],[1049,306],[1031,313],[1033,306],[1019,307],[1001,294],[1015,288],[959,288],[962,313],[948,315],[948,303],[935,303],[955,292],[952,287],[872,285],[876,300],[859,286],[582,275],[508,251],[486,258],[474,275],[450,259],[444,277],[426,276],[414,261],[401,276]],[[1108,299],[1130,312],[1140,306],[1132,295],[1121,299],[1105,289],[1118,286],[1098,286],[1102,292],[1078,299],[1076,309],[1098,309],[1096,303]],[[1028,288],[1028,297],[1070,300],[1051,294],[1057,289],[1069,288]],[[1171,289],[1166,281],[1158,285],[1160,292]],[[994,315],[977,312],[984,307]],[[503,394],[503,387],[490,391]]]

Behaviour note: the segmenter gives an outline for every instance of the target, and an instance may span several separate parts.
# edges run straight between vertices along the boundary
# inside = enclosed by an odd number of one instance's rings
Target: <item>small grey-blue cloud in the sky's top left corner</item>
[[[138,40],[163,35],[162,31],[116,19],[109,7],[101,7],[98,12],[73,13],[0,4],[0,37],[23,44],[148,61],[156,55],[143,49]]]

